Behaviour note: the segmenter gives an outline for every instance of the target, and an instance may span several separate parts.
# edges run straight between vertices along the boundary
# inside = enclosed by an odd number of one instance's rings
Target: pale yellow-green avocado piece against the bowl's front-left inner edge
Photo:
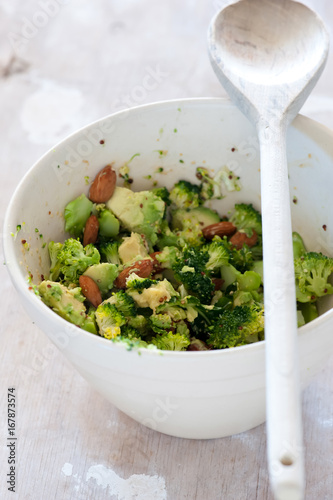
[[[55,313],[76,326],[91,333],[96,333],[94,321],[87,315],[85,297],[81,289],[67,288],[61,283],[44,280],[38,286],[42,301]]]

